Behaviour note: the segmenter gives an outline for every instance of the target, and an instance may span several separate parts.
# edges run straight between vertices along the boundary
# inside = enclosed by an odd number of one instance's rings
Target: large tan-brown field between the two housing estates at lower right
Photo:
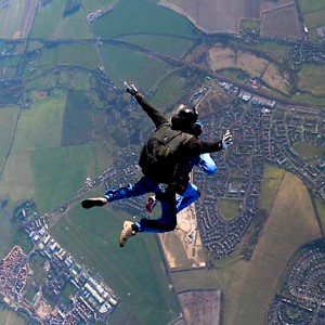
[[[251,260],[217,271],[225,296],[224,324],[264,324],[290,257],[320,235],[304,185],[286,173]]]

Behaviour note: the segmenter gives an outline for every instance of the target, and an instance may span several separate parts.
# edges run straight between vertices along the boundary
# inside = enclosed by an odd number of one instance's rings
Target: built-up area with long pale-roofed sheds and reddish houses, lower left
[[[32,207],[32,208],[30,208]],[[105,320],[118,306],[119,299],[94,272],[81,265],[50,234],[44,217],[36,212],[36,205],[26,202],[16,211],[21,227],[28,234],[32,250],[26,255],[20,246],[11,249],[0,263],[0,294],[12,309],[27,313],[41,324],[80,324]],[[26,298],[34,281],[29,262],[40,255],[44,260],[46,282],[40,284],[31,301]],[[67,302],[56,300],[51,306],[46,291],[60,297],[67,286],[74,287]]]

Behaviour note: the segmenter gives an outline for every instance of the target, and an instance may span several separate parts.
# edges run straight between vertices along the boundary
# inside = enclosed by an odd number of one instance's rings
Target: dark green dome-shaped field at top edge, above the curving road
[[[145,0],[119,1],[113,11],[96,20],[92,26],[94,35],[103,39],[141,32],[186,37],[199,35],[185,17]]]

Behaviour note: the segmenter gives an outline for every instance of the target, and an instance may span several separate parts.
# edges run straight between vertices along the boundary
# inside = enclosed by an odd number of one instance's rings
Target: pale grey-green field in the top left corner
[[[0,10],[0,37],[13,38],[20,30],[25,0],[10,1],[9,8]]]

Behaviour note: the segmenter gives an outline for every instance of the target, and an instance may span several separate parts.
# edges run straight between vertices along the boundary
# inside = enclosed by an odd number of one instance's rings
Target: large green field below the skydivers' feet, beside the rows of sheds
[[[140,234],[123,249],[118,247],[122,220],[129,218],[114,206],[91,213],[78,206],[51,234],[81,262],[96,270],[121,299],[121,306],[112,315],[113,324],[126,324],[126,315],[130,324],[151,324],[152,320],[167,324],[179,315],[180,309],[155,236]]]

